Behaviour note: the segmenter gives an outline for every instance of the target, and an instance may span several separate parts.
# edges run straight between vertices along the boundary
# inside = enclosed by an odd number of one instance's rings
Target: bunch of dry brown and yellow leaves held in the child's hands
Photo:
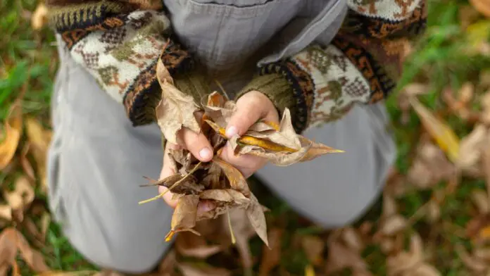
[[[217,218],[232,208],[243,208],[258,236],[268,244],[265,207],[261,206],[256,196],[251,193],[241,172],[219,158],[222,147],[229,142],[235,154],[261,156],[275,165],[291,165],[310,161],[326,153],[342,151],[296,134],[289,110],[284,111],[279,125],[261,121],[252,125],[241,137],[227,139],[225,127],[235,111],[233,101],[227,101],[218,92],[213,92],[198,105],[191,96],[174,87],[172,78],[161,61],[157,65],[157,77],[162,88],[162,99],[156,107],[156,115],[165,139],[178,144],[177,132],[182,127],[187,127],[208,137],[215,151],[213,160],[203,163],[186,149],[169,149],[168,156],[177,173],[144,185],[163,185],[177,199],[177,207],[172,216],[172,229],[166,240],[170,240],[176,232],[189,231],[199,234],[193,230],[196,221]],[[198,114],[203,115],[201,117]],[[163,194],[165,193],[140,203],[159,199]],[[206,213],[198,213],[197,206],[201,200],[213,201],[216,208]]]

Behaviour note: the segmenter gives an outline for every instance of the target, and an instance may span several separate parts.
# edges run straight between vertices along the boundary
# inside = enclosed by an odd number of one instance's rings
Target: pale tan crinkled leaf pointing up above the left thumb
[[[161,65],[161,61],[158,62]],[[160,84],[162,88],[162,99],[156,106],[156,118],[158,126],[165,139],[173,144],[177,142],[177,132],[182,127],[187,127],[193,132],[201,132],[201,127],[196,120],[198,106],[194,103],[192,96],[180,92],[172,84],[164,81]]]

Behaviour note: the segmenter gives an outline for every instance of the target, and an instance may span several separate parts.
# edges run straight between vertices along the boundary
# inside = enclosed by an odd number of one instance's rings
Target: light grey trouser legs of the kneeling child
[[[164,235],[172,216],[163,201],[138,205],[157,193],[138,185],[146,182],[142,176],[156,179],[161,171],[158,127],[132,127],[120,103],[67,56],[54,90],[51,211],[73,246],[96,265],[125,272],[152,268],[168,249]],[[346,153],[286,168],[270,165],[257,175],[318,224],[346,225],[377,197],[394,162],[387,120],[382,103],[356,106],[341,120],[306,132]]]

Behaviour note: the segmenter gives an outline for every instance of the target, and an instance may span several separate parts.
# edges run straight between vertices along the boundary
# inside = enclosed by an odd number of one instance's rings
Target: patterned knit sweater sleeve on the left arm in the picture
[[[115,101],[133,125],[154,120],[161,97],[156,63],[170,75],[194,66],[173,39],[161,1],[48,0],[49,22],[73,60],[82,65]]]

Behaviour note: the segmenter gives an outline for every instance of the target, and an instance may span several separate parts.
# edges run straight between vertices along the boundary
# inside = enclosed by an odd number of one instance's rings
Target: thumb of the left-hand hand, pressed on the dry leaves
[[[183,128],[177,133],[177,137],[199,161],[208,162],[213,159],[213,148],[202,133]]]

